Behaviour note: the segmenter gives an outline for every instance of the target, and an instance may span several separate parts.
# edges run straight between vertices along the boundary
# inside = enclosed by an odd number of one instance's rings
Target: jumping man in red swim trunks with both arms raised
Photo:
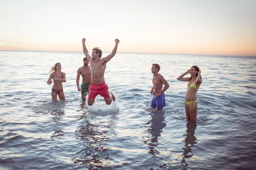
[[[95,97],[99,94],[104,97],[104,100],[107,105],[110,105],[112,100],[115,101],[116,98],[113,93],[108,92],[108,85],[105,83],[104,73],[107,66],[107,62],[109,62],[116,54],[117,46],[119,40],[116,39],[116,45],[107,57],[102,57],[102,51],[99,48],[93,48],[92,57],[88,53],[88,50],[85,46],[85,38],[82,39],[83,51],[86,58],[90,61],[90,71],[92,74],[92,80],[90,85],[90,92],[88,96],[88,105],[93,105]]]

